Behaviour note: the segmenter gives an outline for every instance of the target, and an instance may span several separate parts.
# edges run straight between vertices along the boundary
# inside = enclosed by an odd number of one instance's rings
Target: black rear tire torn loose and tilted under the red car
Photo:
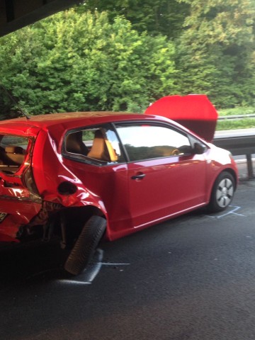
[[[106,220],[103,217],[96,215],[90,217],[81,230],[81,234],[64,264],[64,269],[73,275],[84,271],[93,258],[105,231]]]

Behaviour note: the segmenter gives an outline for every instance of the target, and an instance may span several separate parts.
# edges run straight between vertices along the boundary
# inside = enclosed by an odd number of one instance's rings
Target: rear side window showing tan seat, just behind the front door
[[[98,165],[124,161],[118,137],[111,127],[106,126],[67,132],[64,153],[79,161]]]

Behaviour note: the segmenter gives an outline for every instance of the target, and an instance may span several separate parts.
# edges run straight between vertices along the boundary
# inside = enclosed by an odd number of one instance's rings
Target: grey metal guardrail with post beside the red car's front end
[[[229,150],[233,156],[246,155],[249,179],[254,179],[251,155],[255,154],[255,129],[216,132],[212,143]]]

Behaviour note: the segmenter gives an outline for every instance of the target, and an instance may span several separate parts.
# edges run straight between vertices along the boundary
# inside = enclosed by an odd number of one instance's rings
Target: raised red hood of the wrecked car
[[[215,107],[204,94],[166,96],[152,103],[145,113],[170,118],[208,142],[212,142],[218,117]]]

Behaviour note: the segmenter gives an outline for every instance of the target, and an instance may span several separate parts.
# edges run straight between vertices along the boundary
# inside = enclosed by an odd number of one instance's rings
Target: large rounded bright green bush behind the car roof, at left
[[[1,81],[28,112],[143,111],[175,89],[173,44],[106,12],[64,11],[8,38]]]

